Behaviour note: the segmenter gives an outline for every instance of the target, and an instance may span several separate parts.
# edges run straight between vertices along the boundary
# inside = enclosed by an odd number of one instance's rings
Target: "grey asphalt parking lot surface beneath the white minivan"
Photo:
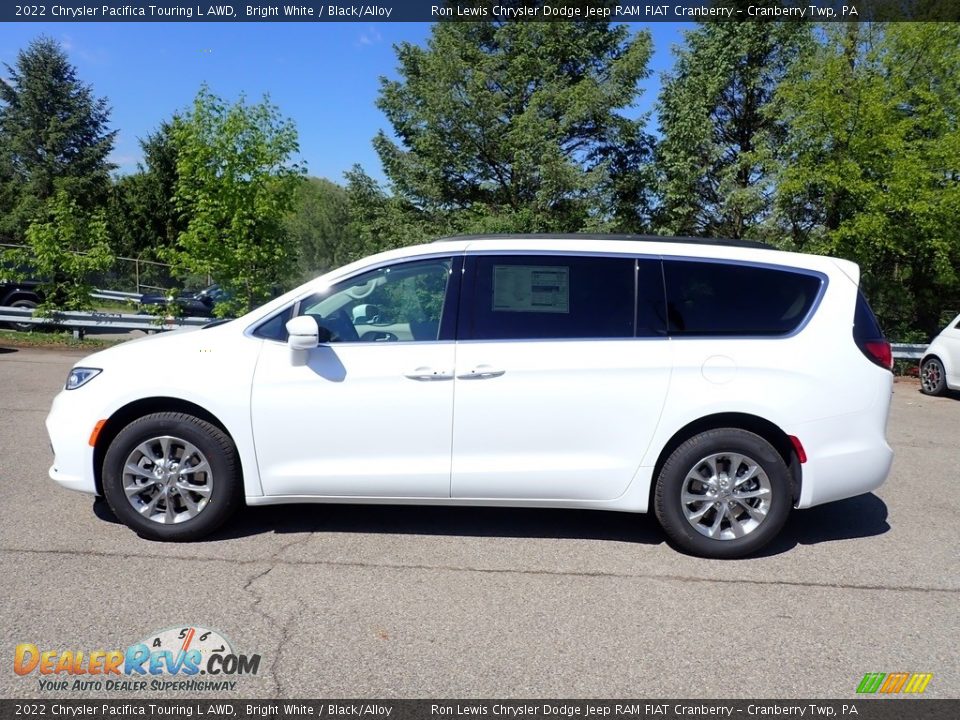
[[[748,560],[681,555],[652,517],[552,510],[247,509],[170,545],[47,479],[43,420],[78,357],[0,348],[0,697],[84,697],[17,676],[18,643],[188,625],[262,658],[195,696],[852,698],[907,671],[960,697],[956,397],[898,383],[886,485],[795,512]]]

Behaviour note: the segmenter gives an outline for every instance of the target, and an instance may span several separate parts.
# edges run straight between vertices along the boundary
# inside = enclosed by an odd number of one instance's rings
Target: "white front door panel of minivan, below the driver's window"
[[[449,496],[453,366],[453,343],[321,345],[294,365],[264,341],[251,397],[264,493]]]

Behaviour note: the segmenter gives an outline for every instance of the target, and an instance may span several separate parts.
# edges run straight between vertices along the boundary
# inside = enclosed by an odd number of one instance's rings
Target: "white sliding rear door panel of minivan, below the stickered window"
[[[502,374],[459,377],[483,366]],[[457,372],[453,497],[610,500],[657,427],[670,342],[466,342]]]

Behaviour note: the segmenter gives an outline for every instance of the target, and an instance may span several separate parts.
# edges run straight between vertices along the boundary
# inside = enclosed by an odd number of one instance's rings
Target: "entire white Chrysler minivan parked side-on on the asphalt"
[[[375,255],[70,372],[50,477],[140,535],[242,503],[653,510],[741,557],[886,478],[890,345],[836,258],[482,236]]]

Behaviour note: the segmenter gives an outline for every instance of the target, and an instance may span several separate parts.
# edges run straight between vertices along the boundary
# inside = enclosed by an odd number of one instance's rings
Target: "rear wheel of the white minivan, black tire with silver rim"
[[[735,456],[752,463],[730,459]],[[734,462],[737,468],[732,470],[731,482],[730,465]],[[753,463],[756,471],[751,471]],[[750,479],[742,479],[748,474]],[[717,489],[711,490],[708,482]],[[735,488],[741,502],[735,499]],[[709,499],[684,503],[685,492],[703,493]],[[747,497],[748,493],[756,495]],[[746,504],[750,505],[749,510]],[[792,505],[790,471],[780,453],[759,435],[736,428],[709,430],[680,445],[664,463],[654,495],[654,511],[670,539],[688,553],[718,559],[740,558],[760,550],[783,528]],[[686,513],[701,517],[688,520]],[[756,516],[761,516],[760,520]],[[710,530],[717,537],[705,534]],[[742,536],[737,536],[735,530]]]

